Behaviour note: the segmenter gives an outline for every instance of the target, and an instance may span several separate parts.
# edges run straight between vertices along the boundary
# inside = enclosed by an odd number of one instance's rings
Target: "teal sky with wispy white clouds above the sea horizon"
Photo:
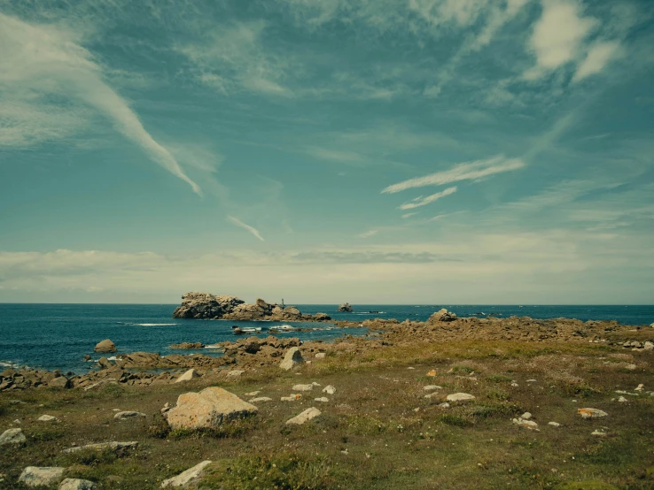
[[[0,302],[654,303],[650,0],[0,0]]]

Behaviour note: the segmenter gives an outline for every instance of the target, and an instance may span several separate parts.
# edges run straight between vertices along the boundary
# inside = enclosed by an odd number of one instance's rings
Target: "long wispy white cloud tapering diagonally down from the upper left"
[[[4,88],[0,100],[35,106],[35,114],[41,112],[38,109],[40,103],[48,96],[64,96],[76,103],[84,103],[109,119],[154,162],[187,182],[193,192],[201,195],[198,184],[183,172],[175,157],[145,130],[125,99],[105,83],[102,67],[80,41],[73,32],[62,27],[29,24],[0,13],[0,52],[3,53],[0,57],[0,83]],[[34,118],[23,118],[17,126],[9,128],[14,136],[4,139],[4,143],[24,144],[35,134],[44,139],[60,134],[56,130],[43,132],[48,126]],[[26,136],[16,135],[17,131]]]

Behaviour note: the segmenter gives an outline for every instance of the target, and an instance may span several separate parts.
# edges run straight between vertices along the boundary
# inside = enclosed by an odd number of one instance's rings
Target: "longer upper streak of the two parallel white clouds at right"
[[[383,194],[395,194],[409,188],[424,188],[426,186],[441,186],[459,180],[479,180],[495,173],[510,172],[525,166],[518,158],[507,159],[504,156],[493,157],[487,160],[477,160],[465,164],[455,165],[445,172],[436,172],[424,177],[409,179],[385,188]]]

